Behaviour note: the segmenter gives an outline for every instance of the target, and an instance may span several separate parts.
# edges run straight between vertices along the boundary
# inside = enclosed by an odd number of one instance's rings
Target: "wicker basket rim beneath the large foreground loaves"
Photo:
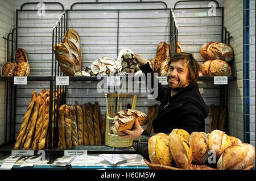
[[[185,170],[185,169],[179,169],[176,167],[171,167],[171,166],[166,166],[166,165],[158,165],[158,164],[153,164],[147,161],[146,158],[144,158],[144,162],[147,164],[147,166],[151,170]],[[246,167],[243,170],[251,170],[254,168],[254,164]],[[218,170],[217,168],[210,167],[208,165],[193,165],[191,164],[190,170]]]

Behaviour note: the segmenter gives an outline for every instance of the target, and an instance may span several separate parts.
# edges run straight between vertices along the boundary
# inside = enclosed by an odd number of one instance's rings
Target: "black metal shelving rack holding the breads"
[[[57,98],[57,100],[55,100],[55,97],[53,98],[53,92],[54,91],[57,91],[59,92],[60,89],[63,89],[64,90],[64,94],[61,95],[60,97],[60,101],[61,101],[61,104],[65,104],[65,100],[66,100],[66,95],[65,93],[67,92],[67,87],[66,86],[56,86],[55,85],[55,78],[56,76],[63,76],[63,73],[61,72],[60,68],[59,68],[59,65],[57,64],[57,60],[56,60],[56,54],[53,52],[53,45],[55,44],[58,44],[58,43],[61,43],[62,39],[63,39],[63,36],[64,36],[64,33],[65,31],[68,29],[68,12],[75,12],[75,11],[92,11],[91,9],[90,10],[86,10],[86,9],[74,9],[75,6],[77,5],[89,5],[89,4],[103,4],[103,3],[161,3],[165,8],[164,9],[135,9],[135,10],[141,10],[141,11],[150,11],[150,10],[165,10],[165,11],[169,11],[170,12],[170,34],[169,34],[169,43],[170,43],[170,53],[171,54],[174,54],[176,53],[177,51],[177,36],[178,36],[178,27],[176,25],[176,21],[175,21],[175,18],[174,18],[174,12],[173,10],[174,9],[168,9],[167,5],[165,2],[159,2],[159,1],[135,1],[135,2],[98,2],[96,0],[96,2],[88,2],[88,3],[74,3],[71,8],[69,10],[64,10],[64,6],[61,5],[61,3],[55,3],[55,4],[59,4],[61,6],[61,10],[46,10],[46,11],[62,11],[63,14],[61,15],[61,17],[59,18],[59,20],[57,20],[56,22],[56,26],[53,27],[52,29],[52,53],[51,53],[51,56],[52,56],[52,66],[51,66],[51,76],[46,76],[46,77],[27,77],[28,81],[49,81],[49,87],[50,87],[50,105],[51,107],[49,108],[50,112],[49,112],[49,125],[52,125],[52,122],[53,121],[57,121],[57,118],[58,117],[53,117],[52,119],[52,115],[55,111],[57,110],[53,110],[52,111],[52,108],[53,108],[53,105],[52,103],[55,102],[55,104],[57,104],[57,108],[60,106],[59,105],[59,99]],[[30,5],[30,4],[33,4],[33,3],[24,3],[21,7],[20,7],[20,10],[16,10],[16,28],[13,30],[12,33],[10,33],[10,35],[12,36],[12,39],[10,39],[9,35],[8,37],[6,38],[7,40],[7,45],[9,45],[9,42],[11,42],[11,51],[9,51],[9,48],[7,48],[7,55],[11,55],[11,58],[9,58],[8,61],[13,61],[13,55],[14,55],[14,47],[13,47],[13,43],[15,43],[15,49],[17,48],[17,36],[18,36],[18,30],[19,30],[19,27],[18,27],[18,12],[20,11],[37,11],[37,10],[23,10],[23,7],[26,6],[26,5]],[[36,4],[36,3],[34,3]],[[47,3],[46,3],[47,4]],[[54,3],[49,3],[49,4],[54,4]],[[223,8],[222,8],[223,9]],[[94,10],[94,11],[106,11],[107,9],[104,9],[104,10]],[[119,12],[121,11],[133,11],[131,9],[118,9],[118,10],[107,10],[107,11],[117,11],[118,13],[118,22],[119,22]],[[223,16],[223,14],[222,14]],[[18,27],[18,28],[17,28]],[[119,30],[119,24],[118,24],[118,27],[117,27],[117,31]],[[16,31],[16,34],[14,34],[14,31]],[[224,32],[222,32],[223,35],[225,35],[225,41],[228,41],[229,43],[229,40],[230,40],[230,35],[226,36],[226,30],[224,28]],[[228,33],[229,34],[229,33]],[[13,37],[16,37],[16,41],[13,40]],[[222,36],[224,37],[224,36]],[[117,33],[117,41],[118,41],[119,37],[118,37],[118,33]],[[9,46],[8,46],[9,47]],[[118,51],[119,51],[119,44],[117,43],[117,54],[118,54]],[[11,52],[11,53],[10,53]],[[103,78],[103,77],[102,77]],[[229,80],[233,80],[235,79],[234,77],[229,77],[228,78]],[[0,77],[0,80],[1,81],[5,81],[6,84],[6,89],[7,91],[9,90],[12,90],[13,93],[11,94],[8,94],[6,93],[6,100],[10,99],[12,100],[13,103],[11,103],[11,106],[14,107],[14,109],[11,109],[14,111],[14,117],[11,117],[12,120],[14,120],[13,122],[10,122],[10,123],[14,123],[14,124],[10,124],[10,128],[11,127],[15,127],[15,91],[16,91],[16,86],[14,85],[13,86],[13,77]],[[69,77],[69,81],[99,81],[99,79],[97,79],[97,77]],[[199,81],[213,81],[213,77],[199,77]],[[11,89],[9,88],[11,87]],[[11,96],[10,96],[11,95]],[[6,107],[8,107],[9,104],[6,104]],[[6,109],[6,114],[8,114],[8,109]],[[54,114],[55,115],[55,114]],[[57,114],[58,116],[58,114]],[[7,116],[6,116],[6,119],[7,119]],[[6,120],[6,123],[7,123],[7,120]],[[56,124],[57,125],[57,124]],[[49,135],[51,135],[52,133],[52,129],[50,129],[51,127],[49,126],[48,127],[48,132],[49,132]],[[6,124],[6,130],[7,130],[7,124]],[[11,129],[10,129],[11,130]],[[63,155],[64,154],[64,150],[61,150],[61,149],[58,149],[56,147],[56,144],[57,144],[57,127],[55,127],[55,129],[53,129],[54,131],[54,135],[55,135],[55,138],[52,138],[51,136],[49,136],[49,143],[51,142],[52,139],[54,139],[54,146],[53,148],[51,147],[51,144],[49,144],[49,149],[46,149],[46,153],[48,153],[51,158],[55,157],[55,155]],[[7,132],[6,132],[7,134]],[[10,135],[11,135],[11,132],[10,132]],[[6,143],[2,146],[0,146],[0,153],[10,153],[11,150],[13,150],[13,145],[14,143],[11,143],[12,141],[15,141],[15,133],[13,132],[13,139],[12,140],[9,140],[9,142],[7,141],[7,137],[6,137]],[[118,148],[110,148],[108,146],[100,146],[100,148],[98,146],[73,146],[72,148],[70,149],[85,149],[85,150],[88,150],[88,153],[122,153],[122,154],[136,154],[136,151],[132,148],[123,148],[123,149],[118,149]],[[53,158],[54,159],[54,158]],[[51,161],[53,160],[51,159]]]

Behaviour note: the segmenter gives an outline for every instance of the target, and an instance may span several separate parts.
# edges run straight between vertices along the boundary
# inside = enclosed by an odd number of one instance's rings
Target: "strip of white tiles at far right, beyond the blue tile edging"
[[[250,0],[250,132],[255,147],[255,0]]]

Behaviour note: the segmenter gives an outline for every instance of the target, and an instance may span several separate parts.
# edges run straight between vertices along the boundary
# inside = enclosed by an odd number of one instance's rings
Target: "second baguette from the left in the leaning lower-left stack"
[[[24,149],[30,149],[32,137],[34,136],[34,132],[35,132],[36,121],[38,120],[38,112],[39,112],[40,103],[41,103],[41,96],[39,95],[39,96],[37,96],[37,98],[35,100],[33,112],[30,117],[31,125],[30,125],[30,129],[28,130],[26,142],[24,143]]]

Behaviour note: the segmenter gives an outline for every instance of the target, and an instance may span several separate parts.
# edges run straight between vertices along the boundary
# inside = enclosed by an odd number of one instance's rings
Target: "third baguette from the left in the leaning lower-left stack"
[[[38,142],[40,138],[40,133],[42,131],[43,127],[43,117],[44,117],[44,111],[46,110],[46,100],[44,98],[41,99],[41,104],[39,107],[39,113],[38,113],[38,121],[36,121],[36,132],[35,136],[32,142],[31,149],[37,149],[38,148]]]

